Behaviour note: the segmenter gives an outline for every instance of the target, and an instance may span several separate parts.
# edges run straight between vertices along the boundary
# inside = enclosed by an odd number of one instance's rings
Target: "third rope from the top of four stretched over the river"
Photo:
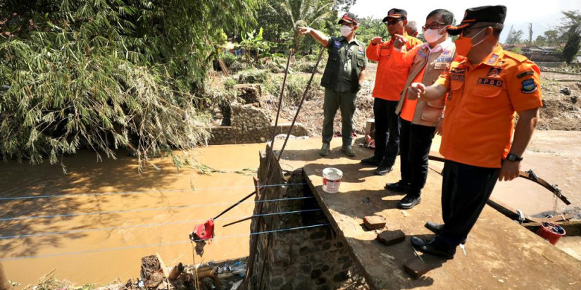
[[[250,217],[262,217],[267,215],[287,215],[291,213],[306,213],[311,211],[319,211],[320,209],[311,209],[311,210],[293,210],[293,211],[286,211],[280,213],[263,213],[260,215],[251,215]],[[239,218],[247,217],[246,215],[237,216],[237,217],[223,217],[220,220],[237,220]],[[39,234],[19,234],[15,236],[6,236],[0,237],[1,239],[20,239],[20,238],[27,238],[27,237],[44,237],[44,236],[52,236],[56,234],[76,234],[80,232],[99,232],[99,231],[108,231],[113,229],[136,229],[142,227],[159,227],[163,225],[180,225],[180,224],[187,224],[190,222],[205,222],[206,220],[178,220],[175,222],[161,222],[161,223],[154,223],[154,224],[146,224],[146,225],[133,225],[133,226],[126,226],[126,227],[99,227],[97,229],[73,229],[70,231],[62,231],[62,232],[46,232],[46,233],[39,233]]]

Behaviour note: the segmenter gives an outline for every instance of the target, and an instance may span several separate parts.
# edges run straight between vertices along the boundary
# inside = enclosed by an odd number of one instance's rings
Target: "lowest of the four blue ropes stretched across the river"
[[[309,226],[305,226],[305,227],[291,227],[289,229],[273,229],[273,230],[265,231],[265,232],[251,232],[249,234],[232,234],[230,236],[215,237],[214,239],[231,239],[231,238],[236,238],[236,237],[252,236],[252,235],[256,235],[256,234],[268,234],[270,232],[287,232],[287,231],[292,231],[295,229],[309,229],[309,228],[313,228],[313,227],[323,227],[325,225],[329,225],[329,224],[309,225]],[[202,240],[201,239],[194,240],[194,242],[196,242],[196,241],[202,241]],[[83,254],[83,253],[101,253],[101,252],[106,252],[106,251],[121,251],[121,250],[129,250],[129,249],[133,249],[133,248],[148,248],[148,247],[154,247],[154,246],[171,246],[171,245],[176,245],[176,244],[187,244],[190,242],[192,242],[192,241],[172,241],[172,242],[160,243],[160,244],[125,246],[125,247],[119,247],[119,248],[101,248],[101,249],[92,249],[92,250],[86,250],[86,251],[77,251],[77,252],[68,252],[68,253],[53,253],[53,254],[38,255],[38,256],[20,256],[20,257],[13,257],[13,258],[0,258],[0,262],[7,262],[7,261],[11,261],[11,260],[26,260],[26,259],[50,258],[50,257],[58,257],[58,256],[70,256],[70,255],[77,255],[77,254]]]

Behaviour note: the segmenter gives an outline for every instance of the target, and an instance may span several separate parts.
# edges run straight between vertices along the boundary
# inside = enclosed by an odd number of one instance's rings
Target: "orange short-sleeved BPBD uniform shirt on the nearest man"
[[[511,149],[515,111],[542,106],[540,70],[501,46],[478,65],[454,61],[436,84],[449,89],[440,153],[447,160],[500,168]]]

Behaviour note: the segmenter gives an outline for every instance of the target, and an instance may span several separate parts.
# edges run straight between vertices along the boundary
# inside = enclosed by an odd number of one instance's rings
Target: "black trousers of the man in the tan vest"
[[[427,156],[436,127],[412,124],[401,117],[399,126],[401,180],[410,184],[408,194],[419,197],[427,179]]]

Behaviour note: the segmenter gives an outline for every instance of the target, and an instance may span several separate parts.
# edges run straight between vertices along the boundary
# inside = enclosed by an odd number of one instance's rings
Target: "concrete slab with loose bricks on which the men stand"
[[[468,237],[466,252],[458,249],[453,260],[423,255],[431,270],[420,279],[404,272],[404,264],[417,260],[409,239],[432,237],[423,227],[427,220],[442,222],[441,176],[430,170],[422,203],[411,210],[396,208],[403,196],[383,189],[399,180],[398,166],[389,175],[373,175],[374,168],[359,164],[369,149],[356,148],[356,158],[340,151],[340,139],[332,141],[329,156],[318,156],[319,139],[291,140],[281,159],[283,169],[304,168],[308,184],[332,227],[349,245],[372,289],[578,289],[581,262],[520,227],[487,206]],[[282,142],[280,142],[282,143]],[[275,150],[282,144],[275,144]],[[438,164],[434,164],[435,167]],[[323,191],[322,171],[327,167],[344,172],[337,194]],[[363,217],[385,217],[389,230],[401,229],[403,243],[384,246],[375,240],[379,231],[366,231]]]

